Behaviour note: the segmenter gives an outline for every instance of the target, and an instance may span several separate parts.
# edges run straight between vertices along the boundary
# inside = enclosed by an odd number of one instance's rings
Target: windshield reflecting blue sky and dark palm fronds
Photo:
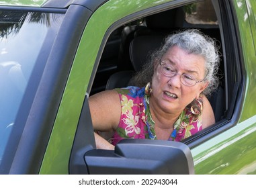
[[[33,79],[32,71],[38,59],[46,62],[49,50],[45,49],[51,48],[62,17],[54,13],[0,11],[0,164],[26,87]]]

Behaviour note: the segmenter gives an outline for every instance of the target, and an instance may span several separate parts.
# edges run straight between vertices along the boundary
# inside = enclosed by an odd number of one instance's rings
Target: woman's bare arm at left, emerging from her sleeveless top
[[[121,115],[120,98],[116,91],[108,90],[89,97],[89,107],[93,129],[99,132],[116,130]],[[114,149],[107,140],[95,134],[96,146],[99,149]]]

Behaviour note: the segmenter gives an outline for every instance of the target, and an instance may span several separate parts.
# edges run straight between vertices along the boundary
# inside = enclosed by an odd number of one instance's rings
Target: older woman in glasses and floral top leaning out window
[[[124,138],[181,141],[215,123],[206,95],[216,89],[218,48],[198,30],[168,36],[132,81],[135,86],[89,97],[96,146],[114,149]]]

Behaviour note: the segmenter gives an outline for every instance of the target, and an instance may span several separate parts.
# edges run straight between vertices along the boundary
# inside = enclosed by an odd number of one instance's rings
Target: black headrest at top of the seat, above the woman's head
[[[146,17],[146,26],[151,29],[182,28],[185,20],[185,12],[181,7],[170,9]]]

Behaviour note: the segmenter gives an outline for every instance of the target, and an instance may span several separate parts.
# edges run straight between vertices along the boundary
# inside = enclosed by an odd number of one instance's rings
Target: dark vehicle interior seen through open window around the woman
[[[207,3],[208,8],[202,13],[200,7],[206,7],[204,3]],[[148,15],[114,30],[105,44],[90,95],[105,89],[130,85],[132,76],[140,71],[148,55],[161,46],[165,37],[185,29],[200,30],[214,38],[220,47],[220,85],[208,99],[214,110],[216,122],[222,120],[226,111],[222,40],[211,1],[200,1]]]

